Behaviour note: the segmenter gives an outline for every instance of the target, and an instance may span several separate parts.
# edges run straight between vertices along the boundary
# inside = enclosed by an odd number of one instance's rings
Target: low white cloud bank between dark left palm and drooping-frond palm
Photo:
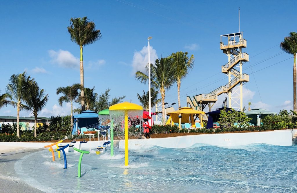
[[[75,109],[75,106],[73,106],[73,109]],[[54,104],[52,109],[47,109],[47,108],[42,109],[42,111],[38,114],[38,116],[50,117],[52,115],[57,116],[58,114],[67,115],[67,114],[70,114],[70,110],[71,110],[70,103],[63,104],[63,106]]]

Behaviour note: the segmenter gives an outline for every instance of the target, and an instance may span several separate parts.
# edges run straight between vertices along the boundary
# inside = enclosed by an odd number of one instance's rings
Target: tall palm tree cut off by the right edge
[[[280,43],[280,48],[294,56],[293,64],[293,110],[297,112],[297,95],[296,95],[296,53],[297,53],[297,33],[290,32],[289,36],[285,37],[284,41]]]

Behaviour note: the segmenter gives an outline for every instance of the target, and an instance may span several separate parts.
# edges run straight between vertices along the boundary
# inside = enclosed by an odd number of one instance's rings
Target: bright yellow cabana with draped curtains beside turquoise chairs
[[[195,127],[194,116],[196,115],[200,120],[201,127],[203,127],[202,114],[205,114],[203,111],[197,111],[191,107],[181,107],[178,108],[177,111],[167,114],[170,115],[170,117],[167,120],[166,125],[174,125],[174,123],[178,123],[179,129],[181,129],[181,123],[189,123],[191,120],[192,127]],[[179,118],[179,116],[181,116],[181,118]]]

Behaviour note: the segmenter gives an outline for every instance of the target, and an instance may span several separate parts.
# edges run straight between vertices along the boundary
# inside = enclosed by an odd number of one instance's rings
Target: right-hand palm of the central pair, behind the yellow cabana
[[[181,81],[189,74],[190,69],[194,67],[195,57],[193,54],[190,57],[188,57],[188,54],[188,52],[182,51],[171,54],[174,65],[176,65],[175,79],[177,84],[178,108],[181,108],[181,101],[179,95]]]

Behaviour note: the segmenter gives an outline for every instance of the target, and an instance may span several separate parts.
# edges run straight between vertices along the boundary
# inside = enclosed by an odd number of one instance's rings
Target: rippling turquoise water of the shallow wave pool
[[[187,149],[154,147],[85,154],[82,178],[77,177],[79,153],[51,161],[42,150],[15,163],[20,178],[45,192],[297,192],[297,146],[252,144],[221,148],[197,144]],[[56,154],[57,157],[57,154]]]

